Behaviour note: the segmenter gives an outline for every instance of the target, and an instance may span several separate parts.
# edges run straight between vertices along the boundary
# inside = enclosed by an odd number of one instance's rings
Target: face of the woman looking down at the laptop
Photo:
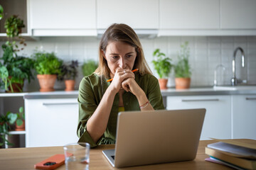
[[[102,53],[110,68],[110,77],[114,77],[117,68],[132,70],[137,57],[135,47],[119,41],[110,42],[106,47],[105,55],[104,52]]]

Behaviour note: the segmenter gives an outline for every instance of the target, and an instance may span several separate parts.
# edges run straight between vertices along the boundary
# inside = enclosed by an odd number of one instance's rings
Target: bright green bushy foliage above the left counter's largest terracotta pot
[[[61,74],[63,60],[58,59],[54,52],[34,52],[34,67],[38,74]]]

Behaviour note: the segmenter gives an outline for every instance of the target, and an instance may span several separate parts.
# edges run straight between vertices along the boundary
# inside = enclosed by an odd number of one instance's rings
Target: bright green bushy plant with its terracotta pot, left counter
[[[61,74],[63,61],[58,59],[54,52],[36,51],[32,57],[41,87],[40,91],[54,91],[53,87],[58,74]]]

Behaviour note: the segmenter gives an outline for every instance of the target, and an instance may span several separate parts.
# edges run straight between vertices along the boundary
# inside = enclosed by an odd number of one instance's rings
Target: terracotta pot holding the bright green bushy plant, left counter
[[[37,75],[40,91],[54,91],[53,87],[57,79],[55,74],[38,74]]]

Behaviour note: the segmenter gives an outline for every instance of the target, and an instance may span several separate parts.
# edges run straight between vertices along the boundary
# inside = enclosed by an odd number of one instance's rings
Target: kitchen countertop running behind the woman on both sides
[[[256,86],[217,86],[217,87],[191,87],[190,89],[176,90],[169,88],[161,90],[166,96],[192,96],[192,95],[239,95],[256,94]],[[78,98],[78,91],[50,91],[50,92],[26,92],[26,93],[0,93],[0,97],[23,96],[32,98]]]

